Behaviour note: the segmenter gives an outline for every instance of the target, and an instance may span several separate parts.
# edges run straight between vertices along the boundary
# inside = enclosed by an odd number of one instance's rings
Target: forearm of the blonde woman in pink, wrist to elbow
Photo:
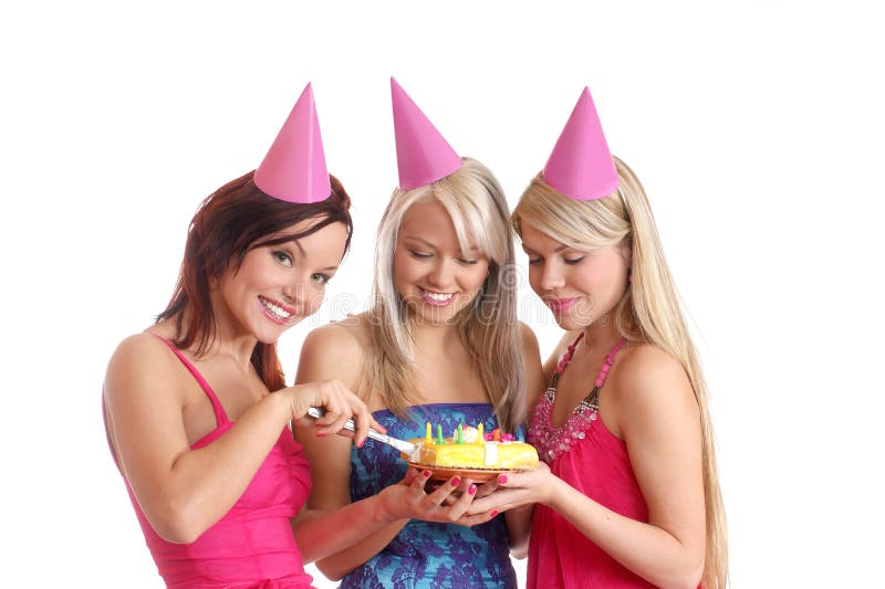
[[[702,549],[658,526],[624,517],[558,481],[546,505],[612,558],[658,587],[697,587]]]

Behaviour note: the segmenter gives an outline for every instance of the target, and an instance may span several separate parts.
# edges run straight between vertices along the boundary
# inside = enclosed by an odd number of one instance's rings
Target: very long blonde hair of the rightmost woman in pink
[[[719,491],[714,432],[707,403],[707,385],[698,360],[657,227],[645,190],[626,164],[614,158],[620,188],[598,200],[571,199],[548,185],[539,173],[520,198],[511,221],[531,223],[542,233],[576,249],[624,243],[632,252],[632,282],[615,309],[615,328],[632,341],[653,344],[674,357],[688,375],[700,409],[706,555],[701,583],[725,587],[728,578],[728,539]]]

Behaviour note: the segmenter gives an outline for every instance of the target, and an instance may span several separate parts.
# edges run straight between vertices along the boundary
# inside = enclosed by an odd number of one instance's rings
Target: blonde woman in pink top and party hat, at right
[[[725,587],[706,385],[648,201],[587,90],[512,221],[566,330],[529,429],[549,467],[499,476],[471,511],[537,503],[530,588]]]

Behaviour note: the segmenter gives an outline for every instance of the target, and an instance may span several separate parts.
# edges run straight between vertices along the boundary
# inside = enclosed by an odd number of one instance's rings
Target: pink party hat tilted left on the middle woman
[[[458,154],[393,77],[391,98],[399,188],[408,190],[427,186],[461,167]]]

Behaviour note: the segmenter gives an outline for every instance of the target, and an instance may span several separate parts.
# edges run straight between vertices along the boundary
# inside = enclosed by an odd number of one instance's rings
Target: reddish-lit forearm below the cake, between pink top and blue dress
[[[304,561],[316,561],[323,575],[339,580],[381,553],[407,523],[375,495],[331,512],[308,511],[293,530]]]

